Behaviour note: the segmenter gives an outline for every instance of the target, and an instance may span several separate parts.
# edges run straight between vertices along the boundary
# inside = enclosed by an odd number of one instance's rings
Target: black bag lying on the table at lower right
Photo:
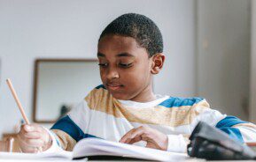
[[[206,122],[198,122],[187,149],[190,157],[209,160],[256,159],[255,152],[248,146]]]

